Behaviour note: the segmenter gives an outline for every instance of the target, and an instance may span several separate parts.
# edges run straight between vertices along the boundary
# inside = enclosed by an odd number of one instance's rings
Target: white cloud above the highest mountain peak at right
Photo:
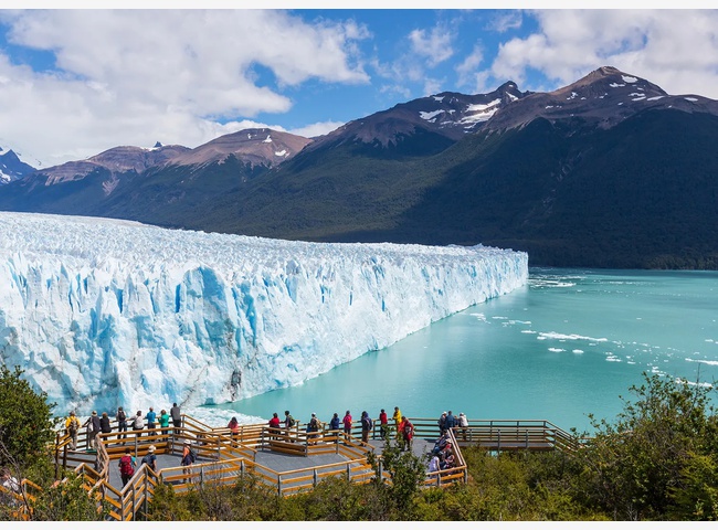
[[[669,94],[700,91],[718,98],[718,11],[547,10],[532,13],[538,31],[499,46],[494,78],[519,86],[529,70],[566,85],[599,66],[615,66]],[[527,86],[545,89],[543,86]]]

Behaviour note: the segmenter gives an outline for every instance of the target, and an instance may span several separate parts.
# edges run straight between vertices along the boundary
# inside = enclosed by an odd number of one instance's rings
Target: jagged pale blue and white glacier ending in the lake
[[[249,398],[526,284],[498,248],[305,243],[0,212],[0,359],[68,409]]]

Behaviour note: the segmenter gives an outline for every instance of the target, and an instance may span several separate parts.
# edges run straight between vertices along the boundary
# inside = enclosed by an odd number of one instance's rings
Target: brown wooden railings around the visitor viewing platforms
[[[414,436],[435,439],[439,426],[435,418],[412,418]],[[70,438],[59,434],[55,441],[57,465],[72,467],[83,477],[85,489],[102,499],[109,507],[109,518],[128,521],[150,501],[155,487],[160,481],[170,484],[178,492],[204,484],[233,484],[240,476],[251,474],[274,489],[277,495],[296,495],[314,488],[326,477],[346,475],[356,483],[366,483],[377,476],[391,480],[382,469],[374,471],[368,463],[367,452],[372,449],[371,441],[379,438],[380,425],[373,422],[369,446],[360,441],[361,427],[356,425],[349,436],[342,430],[325,428],[319,433],[306,433],[306,425],[297,424],[286,431],[271,430],[267,425],[242,425],[237,433],[226,427],[211,427],[191,416],[184,415],[181,427],[156,427],[155,434],[148,430],[127,431],[118,438],[116,431],[99,434],[96,453],[70,452]],[[393,422],[389,422],[393,427]],[[580,446],[577,438],[547,421],[536,420],[486,420],[471,421],[465,430],[455,427],[450,436],[456,447],[456,463],[453,468],[426,475],[424,486],[445,487],[455,481],[466,480],[466,463],[461,446],[478,445],[487,451],[576,451]],[[122,490],[109,484],[108,469],[112,460],[131,448],[136,457],[147,454],[155,445],[158,454],[181,454],[184,442],[190,442],[201,462],[192,466],[178,466],[155,473],[140,465],[133,478]],[[78,433],[78,447],[87,447],[87,434]],[[346,462],[327,464],[291,471],[275,471],[256,463],[258,451],[274,451],[294,455],[316,455],[337,453]]]

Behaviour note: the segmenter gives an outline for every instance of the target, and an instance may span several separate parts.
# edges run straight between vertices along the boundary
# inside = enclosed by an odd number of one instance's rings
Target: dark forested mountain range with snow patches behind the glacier
[[[117,147],[8,179],[0,209],[715,269],[717,142],[718,102],[603,66],[548,93],[508,82],[422,97],[316,138],[249,129],[194,149]]]

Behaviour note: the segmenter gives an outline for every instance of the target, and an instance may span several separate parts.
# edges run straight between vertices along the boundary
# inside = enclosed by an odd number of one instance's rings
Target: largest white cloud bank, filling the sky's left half
[[[222,121],[284,113],[283,88],[367,83],[349,21],[307,23],[262,10],[2,11],[14,46],[52,52],[34,72],[0,53],[0,137],[44,166],[108,147],[196,147]],[[264,77],[257,78],[261,65]],[[55,135],[38,131],[55,129]]]

